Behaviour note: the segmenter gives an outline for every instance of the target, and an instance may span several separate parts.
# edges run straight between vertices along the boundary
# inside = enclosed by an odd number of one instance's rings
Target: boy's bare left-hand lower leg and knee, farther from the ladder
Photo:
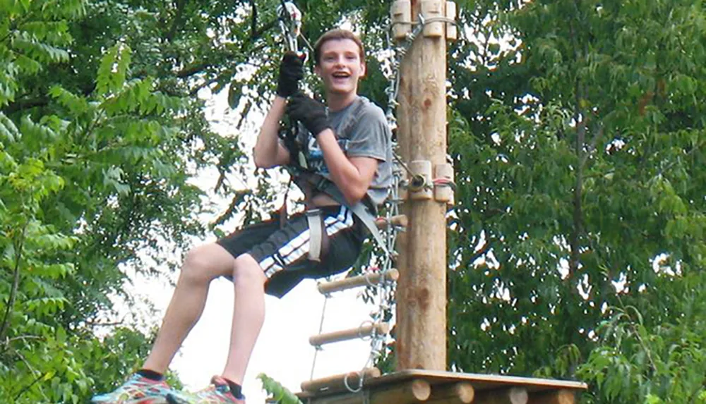
[[[186,255],[177,288],[143,369],[167,371],[184,338],[201,317],[210,282],[231,275],[234,263],[233,256],[215,243],[196,247]]]

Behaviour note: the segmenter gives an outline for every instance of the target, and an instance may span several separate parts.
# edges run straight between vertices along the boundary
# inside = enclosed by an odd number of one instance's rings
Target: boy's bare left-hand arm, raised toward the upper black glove
[[[289,163],[289,151],[282,146],[277,131],[280,129],[280,119],[285,114],[287,100],[279,95],[270,106],[265,121],[253,149],[255,166],[260,169],[270,169]]]

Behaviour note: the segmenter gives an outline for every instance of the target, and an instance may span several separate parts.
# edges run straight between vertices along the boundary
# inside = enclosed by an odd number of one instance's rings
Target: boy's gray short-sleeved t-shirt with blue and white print
[[[358,106],[359,103],[362,106]],[[357,116],[351,116],[355,112]],[[393,181],[392,133],[383,110],[365,97],[358,97],[344,109],[330,112],[328,118],[338,144],[347,157],[371,157],[378,160],[378,169],[368,188],[368,196],[376,206],[382,204]],[[309,169],[331,179],[316,138],[300,125],[297,140],[300,144],[309,142],[308,147],[304,147]]]

